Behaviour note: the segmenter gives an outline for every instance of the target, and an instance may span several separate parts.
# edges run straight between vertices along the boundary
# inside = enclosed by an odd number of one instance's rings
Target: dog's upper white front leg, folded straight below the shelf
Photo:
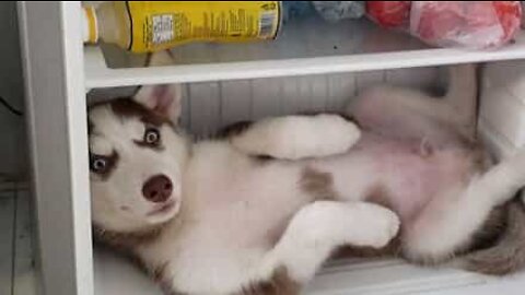
[[[361,135],[353,122],[327,114],[269,118],[230,131],[230,142],[244,153],[283,160],[343,153]]]

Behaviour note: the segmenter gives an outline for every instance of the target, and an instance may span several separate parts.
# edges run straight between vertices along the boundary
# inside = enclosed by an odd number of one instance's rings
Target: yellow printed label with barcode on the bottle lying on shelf
[[[280,1],[127,1],[129,49],[148,52],[190,42],[272,39],[281,22]]]

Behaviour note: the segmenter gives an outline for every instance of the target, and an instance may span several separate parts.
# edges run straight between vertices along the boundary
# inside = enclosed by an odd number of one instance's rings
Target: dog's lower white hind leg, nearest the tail
[[[525,185],[525,149],[474,177],[468,185],[436,196],[404,224],[402,251],[412,260],[439,262],[468,249],[492,210]]]

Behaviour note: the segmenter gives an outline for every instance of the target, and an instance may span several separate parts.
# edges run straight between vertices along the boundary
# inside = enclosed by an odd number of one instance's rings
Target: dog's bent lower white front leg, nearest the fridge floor
[[[318,201],[304,206],[262,261],[260,275],[285,270],[290,280],[311,280],[330,253],[343,245],[381,248],[397,234],[397,215],[371,203]]]

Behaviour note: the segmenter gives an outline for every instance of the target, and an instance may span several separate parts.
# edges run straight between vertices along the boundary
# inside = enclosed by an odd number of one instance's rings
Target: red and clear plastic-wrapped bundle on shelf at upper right
[[[494,48],[520,31],[520,1],[369,1],[384,27],[401,28],[440,47]]]

